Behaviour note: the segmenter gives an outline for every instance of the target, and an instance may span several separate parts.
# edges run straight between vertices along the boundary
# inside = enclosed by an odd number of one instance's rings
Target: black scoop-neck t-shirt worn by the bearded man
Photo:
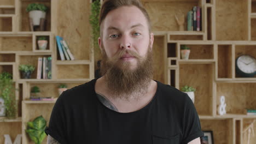
[[[203,136],[186,93],[157,82],[154,98],[142,109],[120,113],[96,97],[94,79],[68,89],[57,99],[45,133],[64,143],[188,143]]]

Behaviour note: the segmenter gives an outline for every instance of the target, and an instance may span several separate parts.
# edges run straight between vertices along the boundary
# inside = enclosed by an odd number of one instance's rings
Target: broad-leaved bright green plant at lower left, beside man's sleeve
[[[46,121],[43,116],[39,116],[33,120],[33,122],[27,122],[26,132],[30,136],[30,139],[36,144],[42,143],[46,134],[44,129],[46,127]]]

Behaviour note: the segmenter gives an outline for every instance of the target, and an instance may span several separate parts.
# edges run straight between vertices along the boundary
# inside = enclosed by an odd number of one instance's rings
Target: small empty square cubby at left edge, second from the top
[[[0,32],[12,32],[13,31],[13,17],[12,16],[0,16]]]

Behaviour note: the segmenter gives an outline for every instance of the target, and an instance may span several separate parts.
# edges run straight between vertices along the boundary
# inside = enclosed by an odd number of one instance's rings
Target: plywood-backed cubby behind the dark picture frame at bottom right
[[[233,119],[201,119],[203,131],[213,131],[214,143],[233,143]]]

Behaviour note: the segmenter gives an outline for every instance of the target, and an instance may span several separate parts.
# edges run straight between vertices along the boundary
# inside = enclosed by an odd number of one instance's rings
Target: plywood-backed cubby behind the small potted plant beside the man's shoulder
[[[214,64],[179,64],[179,89],[196,88],[195,107],[199,115],[213,115]]]

